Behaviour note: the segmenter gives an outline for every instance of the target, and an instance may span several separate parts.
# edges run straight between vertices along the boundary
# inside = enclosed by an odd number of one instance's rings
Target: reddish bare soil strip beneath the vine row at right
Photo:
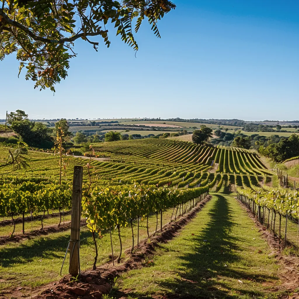
[[[280,264],[280,279],[282,283],[279,286],[274,286],[273,291],[285,291],[294,292],[298,290],[299,286],[299,257],[283,255],[283,243],[277,236],[273,236],[270,232],[260,224],[253,213],[246,208],[242,202],[238,201],[241,207],[247,211],[248,216],[254,221],[255,225],[259,228],[259,232],[262,232],[262,237],[268,242],[270,248],[273,250],[271,255],[274,255],[277,262]],[[292,296],[286,295],[282,299],[298,299],[299,292],[294,292]]]

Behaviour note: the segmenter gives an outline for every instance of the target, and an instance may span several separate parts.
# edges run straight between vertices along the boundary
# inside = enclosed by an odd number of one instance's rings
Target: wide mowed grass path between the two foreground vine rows
[[[119,278],[113,297],[279,298],[270,290],[279,266],[254,222],[233,196],[212,194],[148,267]]]

